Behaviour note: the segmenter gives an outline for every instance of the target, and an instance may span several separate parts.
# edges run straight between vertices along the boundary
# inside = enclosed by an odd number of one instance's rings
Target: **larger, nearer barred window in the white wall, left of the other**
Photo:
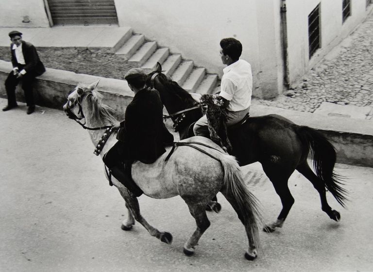
[[[320,4],[308,15],[309,58],[320,48]]]

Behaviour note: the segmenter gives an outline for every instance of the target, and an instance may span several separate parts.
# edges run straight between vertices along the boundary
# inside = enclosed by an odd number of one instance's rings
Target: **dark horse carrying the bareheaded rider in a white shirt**
[[[161,64],[158,63],[156,70],[148,75],[148,82],[158,90],[180,139],[188,138],[193,135],[193,123],[202,116],[201,109],[178,113],[193,108],[196,102],[161,71]],[[239,165],[259,161],[280,196],[283,208],[275,222],[264,226],[264,231],[273,232],[276,227],[282,227],[294,204],[288,188],[288,178],[294,170],[305,176],[319,192],[322,210],[331,219],[337,222],[340,220],[339,212],[327,203],[326,190],[332,193],[342,207],[345,207],[347,191],[340,186],[340,178],[333,170],[336,151],[320,132],[298,126],[280,115],[270,114],[248,118],[242,125],[230,128],[228,136],[233,146],[231,155],[237,158]],[[316,174],[307,163],[309,152]]]

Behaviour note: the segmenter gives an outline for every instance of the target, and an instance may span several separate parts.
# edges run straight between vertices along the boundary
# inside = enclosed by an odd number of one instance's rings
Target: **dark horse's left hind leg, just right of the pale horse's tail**
[[[286,217],[294,204],[294,198],[288,188],[288,179],[292,174],[292,171],[286,171],[284,167],[279,167],[278,165],[262,164],[263,170],[271,180],[274,190],[278,194],[282,203],[282,210],[277,217],[277,220],[273,223],[266,224],[263,227],[265,232],[273,232],[276,227],[282,227],[285,222]]]

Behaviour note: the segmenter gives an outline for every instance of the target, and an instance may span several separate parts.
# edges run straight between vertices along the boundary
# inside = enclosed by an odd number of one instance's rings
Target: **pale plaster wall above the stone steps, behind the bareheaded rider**
[[[181,53],[196,66],[221,77],[219,42],[237,38],[243,46],[241,59],[253,68],[253,95],[278,94],[280,41],[279,1],[273,0],[115,0],[119,26],[130,26],[159,46]],[[276,10],[277,9],[277,10]],[[282,78],[282,77],[280,77]]]

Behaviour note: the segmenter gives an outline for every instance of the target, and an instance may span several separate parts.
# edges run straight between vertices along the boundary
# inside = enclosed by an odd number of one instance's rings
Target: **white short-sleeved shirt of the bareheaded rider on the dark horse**
[[[249,108],[253,93],[251,65],[238,60],[225,67],[223,73],[219,95],[230,101],[227,110],[238,112]]]

